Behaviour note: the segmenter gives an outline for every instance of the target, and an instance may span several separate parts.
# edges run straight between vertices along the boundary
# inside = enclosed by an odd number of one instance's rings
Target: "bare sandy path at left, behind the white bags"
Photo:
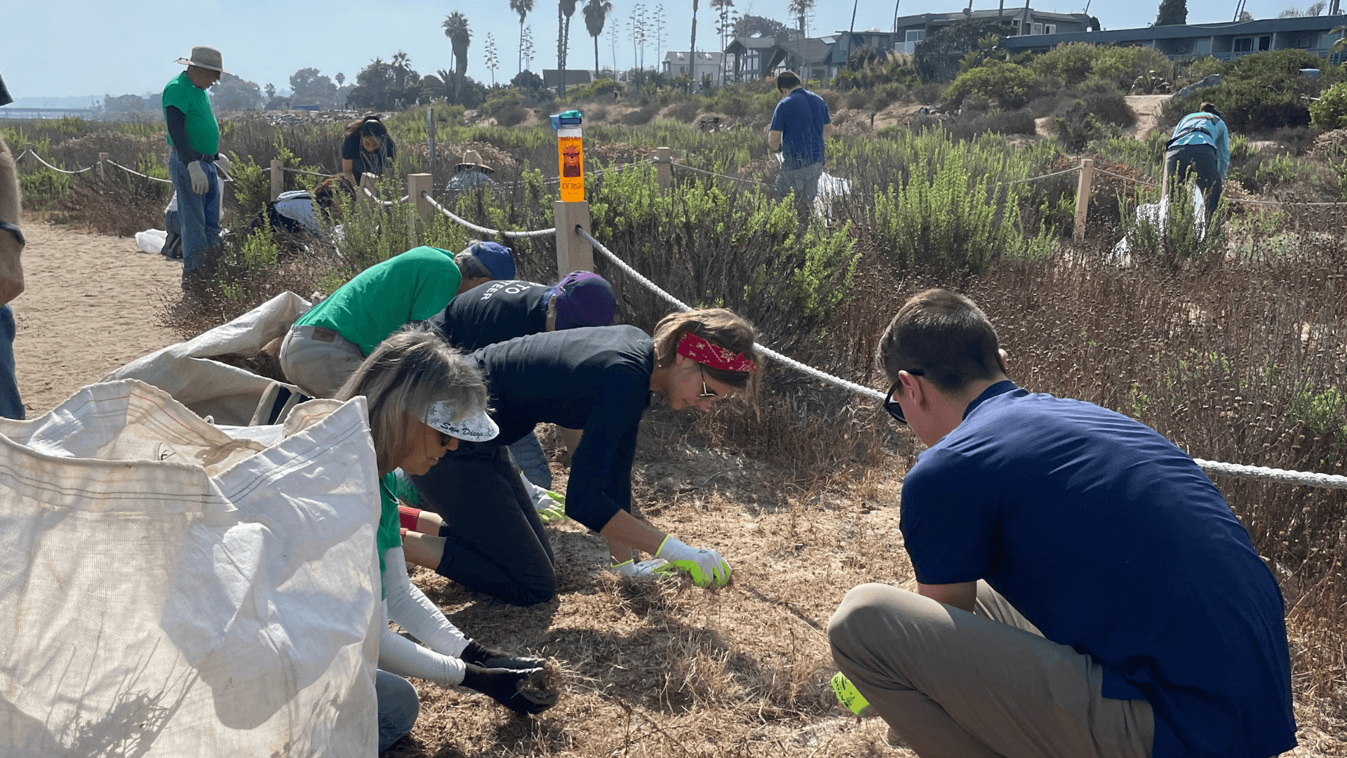
[[[136,250],[129,237],[26,218],[26,289],[13,306],[19,392],[28,418],[51,410],[113,368],[178,341],[162,325],[176,301],[179,262]]]

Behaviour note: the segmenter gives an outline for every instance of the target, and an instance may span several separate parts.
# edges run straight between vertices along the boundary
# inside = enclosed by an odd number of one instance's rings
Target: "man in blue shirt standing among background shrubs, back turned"
[[[776,175],[776,190],[785,194],[795,190],[795,198],[814,205],[823,174],[823,140],[832,136],[832,119],[823,98],[804,89],[793,71],[776,77],[781,101],[772,113],[766,146],[781,152],[781,171]]]

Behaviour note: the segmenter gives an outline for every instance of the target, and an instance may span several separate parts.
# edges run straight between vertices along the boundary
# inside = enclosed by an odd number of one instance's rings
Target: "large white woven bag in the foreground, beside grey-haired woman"
[[[275,432],[137,380],[0,419],[0,755],[374,755],[364,399]]]

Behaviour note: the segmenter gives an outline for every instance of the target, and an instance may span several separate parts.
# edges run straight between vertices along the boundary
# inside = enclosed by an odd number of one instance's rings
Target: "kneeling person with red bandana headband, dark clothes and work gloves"
[[[459,584],[528,606],[556,592],[554,556],[543,523],[506,456],[511,442],[537,424],[583,429],[571,457],[566,515],[607,541],[622,576],[684,572],[700,587],[723,585],[730,566],[709,549],[691,548],[632,517],[632,461],[641,414],[652,394],[675,410],[707,410],[738,392],[756,397],[761,372],[753,326],[725,309],[675,313],[655,326],[591,326],[543,332],[488,345],[469,356],[490,390],[500,434],[461,442],[412,482],[419,523],[407,560]],[[632,552],[652,558],[636,562]]]

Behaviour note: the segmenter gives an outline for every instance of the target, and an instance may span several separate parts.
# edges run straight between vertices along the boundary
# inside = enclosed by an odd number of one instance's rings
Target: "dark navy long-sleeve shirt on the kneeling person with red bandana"
[[[490,390],[493,444],[537,424],[583,429],[571,456],[566,515],[601,530],[632,510],[636,432],[651,402],[655,347],[636,326],[586,326],[496,343],[470,356]]]

